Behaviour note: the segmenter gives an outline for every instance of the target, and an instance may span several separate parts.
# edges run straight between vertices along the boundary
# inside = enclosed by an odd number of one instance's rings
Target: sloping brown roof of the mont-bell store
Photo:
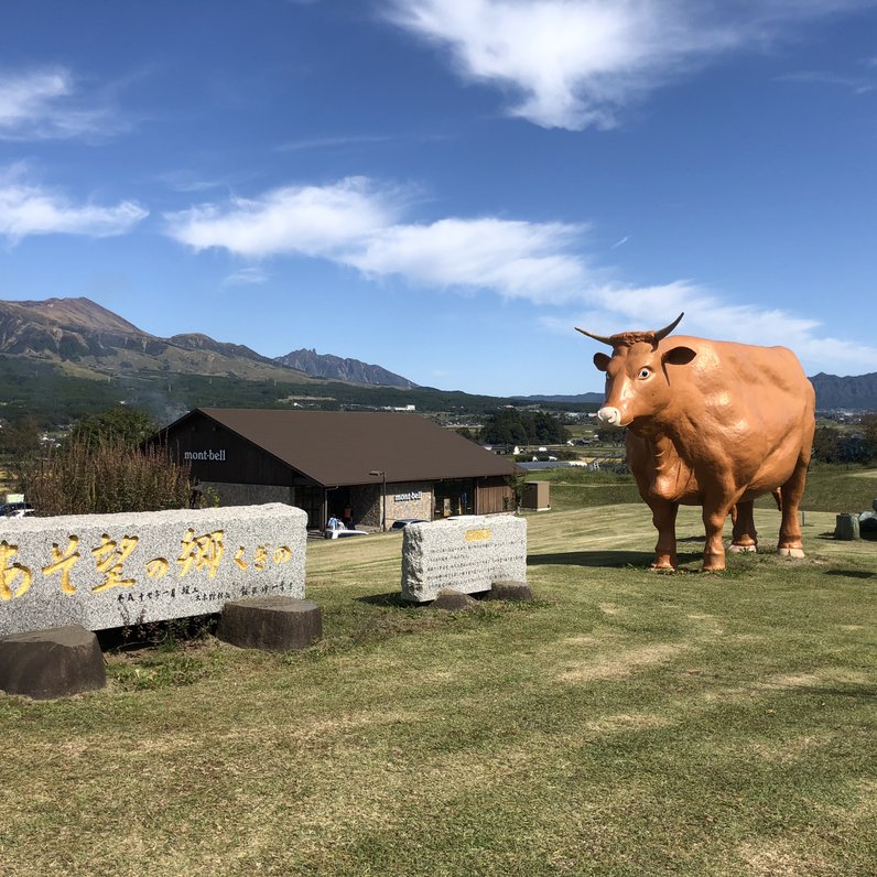
[[[370,470],[386,472],[392,483],[516,472],[509,461],[420,414],[201,408],[183,420],[197,411],[324,486],[380,481]]]

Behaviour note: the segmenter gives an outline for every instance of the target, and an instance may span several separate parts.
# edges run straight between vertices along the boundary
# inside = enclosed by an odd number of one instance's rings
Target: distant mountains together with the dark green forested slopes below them
[[[39,381],[40,388],[30,386]],[[431,410],[484,411],[509,401],[551,408],[591,405],[600,393],[527,396],[512,400],[418,387],[381,366],[302,348],[269,358],[240,344],[208,335],[161,338],[89,299],[0,301],[0,404],[25,410],[47,392],[69,394],[65,415],[105,396],[170,411],[195,404],[430,405]],[[63,381],[66,389],[61,389]],[[76,389],[71,381],[78,381]],[[819,373],[811,378],[820,410],[877,411],[877,372],[857,377]],[[95,382],[100,392],[90,391]],[[272,389],[267,389],[272,388]],[[174,392],[178,389],[178,392]],[[209,401],[213,394],[218,399]],[[119,399],[119,396],[124,399]],[[401,394],[404,394],[402,398]],[[171,398],[171,397],[174,398]],[[79,401],[74,403],[73,397]],[[310,401],[308,401],[310,400]],[[46,400],[47,410],[52,398]],[[443,408],[442,405],[450,405]],[[10,412],[11,413],[11,412]]]

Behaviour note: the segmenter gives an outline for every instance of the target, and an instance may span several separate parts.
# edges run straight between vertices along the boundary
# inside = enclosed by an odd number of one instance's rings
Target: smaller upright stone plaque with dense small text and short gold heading
[[[445,588],[489,591],[527,577],[527,521],[510,515],[410,523],[402,531],[402,598],[434,600]]]

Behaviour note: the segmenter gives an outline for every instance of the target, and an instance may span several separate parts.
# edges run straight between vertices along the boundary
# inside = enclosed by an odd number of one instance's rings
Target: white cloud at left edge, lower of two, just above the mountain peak
[[[132,201],[76,204],[63,193],[28,182],[21,165],[0,171],[0,235],[12,243],[31,235],[124,235],[148,215]]]

